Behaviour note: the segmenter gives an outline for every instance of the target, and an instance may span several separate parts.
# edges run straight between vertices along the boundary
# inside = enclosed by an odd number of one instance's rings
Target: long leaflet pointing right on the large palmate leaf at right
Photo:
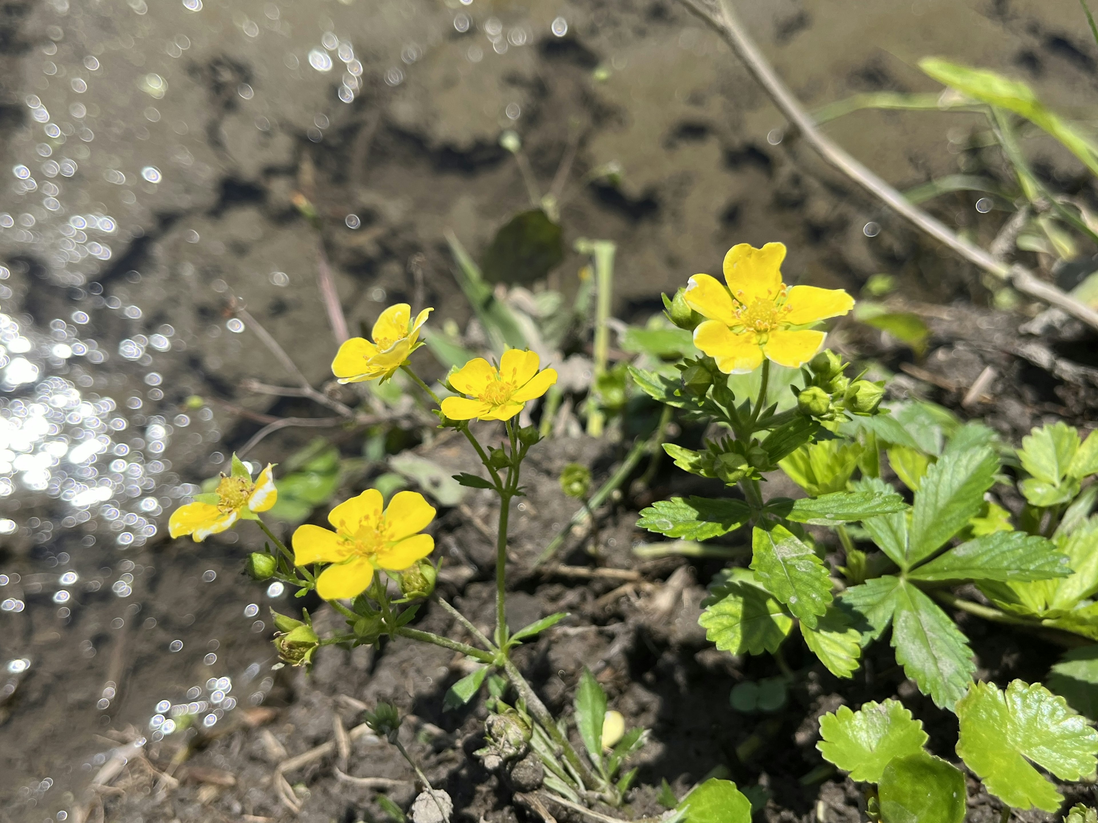
[[[950,549],[908,573],[916,580],[1017,580],[1068,577],[1067,555],[1042,537],[997,531]]]

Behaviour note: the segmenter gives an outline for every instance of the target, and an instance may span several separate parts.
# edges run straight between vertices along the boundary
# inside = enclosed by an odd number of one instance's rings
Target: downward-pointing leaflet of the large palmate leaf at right
[[[915,586],[896,589],[893,615],[896,662],[934,704],[953,710],[976,670],[968,641],[950,616]]]

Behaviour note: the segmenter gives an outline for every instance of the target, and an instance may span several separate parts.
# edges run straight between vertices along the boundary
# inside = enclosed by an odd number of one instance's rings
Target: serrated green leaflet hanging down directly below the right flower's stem
[[[832,599],[824,561],[781,523],[757,526],[751,548],[751,568],[759,583],[788,606],[794,617],[815,629]]]

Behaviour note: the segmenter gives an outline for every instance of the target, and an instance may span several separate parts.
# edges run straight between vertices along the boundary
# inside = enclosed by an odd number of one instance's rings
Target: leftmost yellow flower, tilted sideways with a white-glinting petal
[[[172,511],[168,533],[173,538],[190,534],[202,542],[211,534],[231,529],[240,518],[258,519],[256,512],[266,511],[277,499],[273,466],[268,463],[253,483],[251,473],[234,454],[232,474],[221,475],[214,492],[194,495],[194,503]]]

